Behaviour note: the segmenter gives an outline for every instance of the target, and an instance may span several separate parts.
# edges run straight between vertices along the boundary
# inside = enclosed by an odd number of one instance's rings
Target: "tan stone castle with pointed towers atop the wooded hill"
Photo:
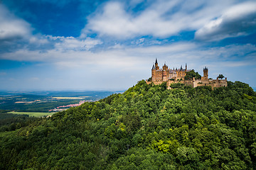
[[[169,87],[171,84],[174,83],[182,83],[186,86],[211,86],[212,89],[214,87],[220,87],[220,86],[228,86],[227,78],[225,79],[209,79],[208,78],[208,68],[203,68],[203,77],[201,79],[185,79],[186,74],[188,72],[191,72],[191,69],[187,68],[187,64],[185,69],[169,69],[166,64],[162,67],[162,69],[159,68],[157,59],[156,62],[153,64],[153,67],[151,69],[151,78],[149,80],[146,80],[147,84],[162,84],[163,82],[167,83],[167,86]],[[169,87],[170,88],[170,87]]]

